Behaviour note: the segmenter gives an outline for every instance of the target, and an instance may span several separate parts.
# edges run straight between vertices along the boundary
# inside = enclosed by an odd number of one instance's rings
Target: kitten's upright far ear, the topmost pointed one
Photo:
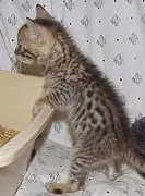
[[[36,5],[36,19],[49,19],[49,20],[53,20],[53,17],[40,4]]]

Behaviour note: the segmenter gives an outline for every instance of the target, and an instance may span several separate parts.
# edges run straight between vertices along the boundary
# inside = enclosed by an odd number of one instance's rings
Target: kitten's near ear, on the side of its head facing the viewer
[[[26,24],[29,27],[28,30],[29,30],[31,38],[32,39],[37,38],[38,37],[38,28],[37,28],[36,24],[33,22],[33,20],[31,20],[29,17],[26,17]]]

